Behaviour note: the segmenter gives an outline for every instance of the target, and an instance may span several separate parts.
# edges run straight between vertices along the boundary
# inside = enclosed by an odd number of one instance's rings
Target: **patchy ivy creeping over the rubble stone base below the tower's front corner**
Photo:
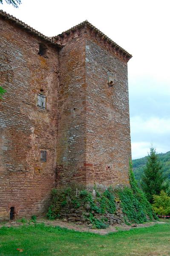
[[[79,188],[80,189],[80,188]],[[53,220],[58,218],[62,207],[69,205],[70,208],[78,209],[80,207],[86,208],[90,212],[89,217],[86,217],[96,228],[107,227],[107,218],[95,218],[94,214],[115,213],[115,198],[113,189],[108,188],[103,193],[96,192],[95,198],[92,193],[86,189],[78,190],[76,187],[67,187],[64,189],[52,190],[52,205],[49,207],[47,218]]]

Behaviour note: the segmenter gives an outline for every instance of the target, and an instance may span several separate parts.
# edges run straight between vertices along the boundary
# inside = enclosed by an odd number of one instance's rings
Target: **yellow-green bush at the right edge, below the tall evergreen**
[[[153,195],[153,209],[158,215],[170,215],[170,197],[163,190]]]

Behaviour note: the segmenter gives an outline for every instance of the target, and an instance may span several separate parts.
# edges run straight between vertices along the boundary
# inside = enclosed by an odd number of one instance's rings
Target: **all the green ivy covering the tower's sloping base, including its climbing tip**
[[[67,187],[64,189],[52,190],[52,204],[49,207],[47,217],[49,219],[60,218],[61,209],[69,206],[69,209],[81,209],[89,212],[85,216],[96,228],[106,228],[108,226],[107,218],[96,218],[95,213],[104,215],[105,213],[115,214],[115,198],[121,203],[124,221],[128,223],[143,223],[156,219],[151,204],[147,201],[144,192],[138,188],[135,180],[132,163],[129,170],[130,187],[124,189],[107,188],[104,192],[98,192],[96,186],[92,192],[85,188]]]

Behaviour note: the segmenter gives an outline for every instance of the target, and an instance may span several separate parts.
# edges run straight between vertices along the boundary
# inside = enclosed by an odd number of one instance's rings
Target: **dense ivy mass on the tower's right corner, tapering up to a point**
[[[144,192],[138,188],[131,162],[129,178],[131,188],[125,187],[118,192],[121,199],[122,211],[125,214],[125,222],[128,223],[128,221],[130,221],[132,223],[143,223],[148,221],[148,219],[156,219],[157,217],[153,212],[151,204],[147,201]]]

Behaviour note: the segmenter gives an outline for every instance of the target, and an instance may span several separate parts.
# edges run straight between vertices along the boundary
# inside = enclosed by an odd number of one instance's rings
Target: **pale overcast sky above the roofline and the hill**
[[[88,20],[133,55],[128,62],[133,159],[170,151],[170,0],[21,0],[0,4],[46,36]]]

